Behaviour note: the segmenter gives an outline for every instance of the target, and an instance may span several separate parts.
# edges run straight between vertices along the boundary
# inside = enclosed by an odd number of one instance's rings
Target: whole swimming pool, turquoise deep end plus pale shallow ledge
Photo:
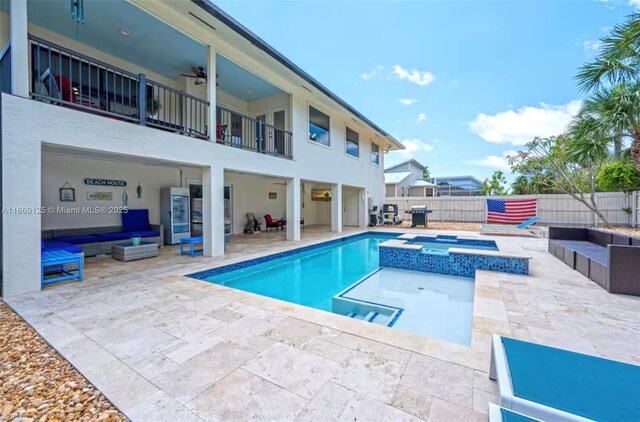
[[[366,233],[190,276],[469,344],[473,279],[380,269],[378,245],[397,237],[397,233]]]

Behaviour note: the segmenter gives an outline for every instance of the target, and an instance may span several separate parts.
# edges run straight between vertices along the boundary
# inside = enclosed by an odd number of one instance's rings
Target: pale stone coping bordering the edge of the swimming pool
[[[320,245],[325,245],[330,242],[343,241],[343,239],[362,236],[368,233],[400,235],[404,232],[405,231],[401,229],[395,228],[385,228],[384,231],[363,230],[359,233],[350,233],[347,235],[336,237],[329,241],[322,240],[300,248],[291,248],[276,254],[265,255],[264,257],[266,258],[287,252],[289,252],[290,254],[293,253],[292,251],[297,251],[299,249],[307,247],[318,248],[321,247]],[[494,240],[496,244],[499,243],[500,245],[503,245],[503,248],[506,248],[508,250],[520,249],[522,251],[519,246],[510,244],[508,238],[502,240],[482,235],[473,237]],[[233,264],[221,265],[220,267],[238,264],[243,261],[246,260],[240,260]],[[182,275],[182,277],[192,282],[202,283],[203,285],[207,286],[207,289],[215,290],[216,293],[220,296],[234,301],[239,301],[248,305],[276,312],[281,315],[290,316],[330,329],[342,331],[364,339],[377,341],[390,346],[434,357],[436,359],[445,360],[448,362],[487,372],[489,370],[491,335],[494,333],[503,333],[504,335],[510,335],[510,328],[502,297],[500,295],[497,298],[485,296],[495,296],[493,292],[495,292],[496,289],[498,291],[500,290],[499,277],[507,275],[509,277],[529,277],[520,276],[517,274],[503,274],[493,271],[476,270],[476,284],[474,288],[474,307],[470,346],[451,343],[434,337],[426,337],[421,334],[403,331],[397,328],[389,328],[378,324],[354,320],[352,318],[334,314],[328,311],[322,311],[319,309],[298,305],[292,302],[285,302],[268,296],[262,296],[259,294],[234,289],[232,287],[210,283],[202,279],[192,277],[189,274]],[[489,292],[489,294],[487,292]],[[482,304],[483,306],[478,306],[479,304]],[[491,308],[497,308],[497,311],[487,312],[487,306]]]

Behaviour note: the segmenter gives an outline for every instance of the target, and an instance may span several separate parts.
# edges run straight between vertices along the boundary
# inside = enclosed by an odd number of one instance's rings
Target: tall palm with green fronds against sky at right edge
[[[606,133],[616,150],[630,139],[629,153],[640,170],[640,14],[630,15],[600,42],[598,56],[576,76],[580,88],[593,93],[581,115],[593,117],[596,130]]]

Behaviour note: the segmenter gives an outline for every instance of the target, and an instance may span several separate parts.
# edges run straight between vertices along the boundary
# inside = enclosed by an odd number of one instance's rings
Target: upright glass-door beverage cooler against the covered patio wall
[[[160,190],[160,220],[164,226],[164,243],[174,245],[191,236],[188,188]]]

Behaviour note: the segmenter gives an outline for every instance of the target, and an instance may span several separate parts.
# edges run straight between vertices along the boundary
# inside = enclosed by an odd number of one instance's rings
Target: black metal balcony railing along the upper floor
[[[210,139],[208,101],[148,80],[142,73],[119,69],[34,36],[29,39],[34,99]],[[216,141],[292,158],[291,132],[220,106]]]

